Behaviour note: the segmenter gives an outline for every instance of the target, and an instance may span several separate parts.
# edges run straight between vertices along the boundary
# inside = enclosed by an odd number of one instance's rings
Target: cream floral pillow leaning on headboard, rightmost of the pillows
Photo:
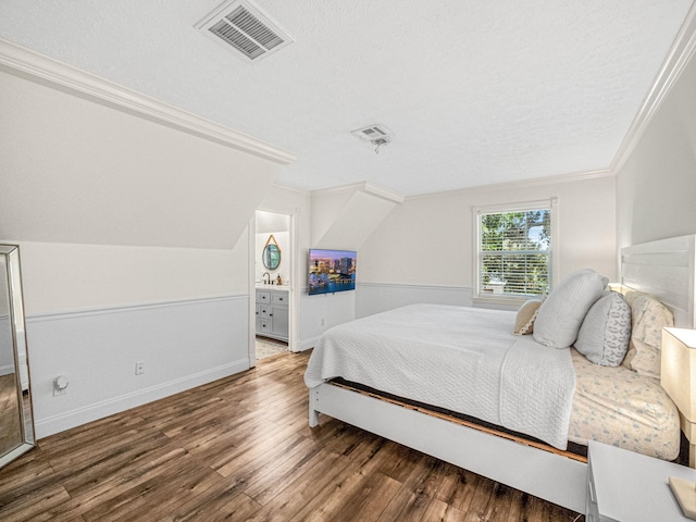
[[[648,294],[630,291],[626,302],[631,306],[632,332],[623,363],[641,375],[660,378],[662,328],[674,326],[674,316]]]

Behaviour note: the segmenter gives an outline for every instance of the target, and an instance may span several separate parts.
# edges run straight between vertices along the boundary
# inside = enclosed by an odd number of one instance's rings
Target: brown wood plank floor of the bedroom
[[[310,430],[307,360],[307,352],[274,356],[240,375],[41,439],[0,470],[0,520],[577,515],[333,419]]]

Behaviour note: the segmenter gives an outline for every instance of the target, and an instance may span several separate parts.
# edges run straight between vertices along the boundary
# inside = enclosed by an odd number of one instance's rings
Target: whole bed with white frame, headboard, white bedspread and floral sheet
[[[676,326],[693,327],[694,237],[622,249],[622,300],[657,300]],[[556,293],[547,300],[569,298]],[[468,319],[460,322],[458,315]],[[636,353],[633,341],[623,362],[598,365],[571,348],[572,341],[554,346],[576,330],[545,338],[557,318],[543,315],[534,326],[538,335],[511,334],[518,312],[439,306],[406,307],[332,328],[306,373],[310,426],[326,414],[582,512],[587,439],[670,460],[679,451],[679,413],[659,378],[631,366],[655,363]],[[401,348],[394,351],[395,345]],[[527,361],[530,353],[539,357]],[[424,374],[436,375],[431,387],[422,383]],[[484,386],[493,391],[480,393]]]

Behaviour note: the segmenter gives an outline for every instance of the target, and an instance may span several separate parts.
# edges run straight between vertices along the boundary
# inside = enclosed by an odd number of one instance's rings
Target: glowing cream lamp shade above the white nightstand
[[[660,384],[679,411],[696,422],[696,331],[662,328]]]

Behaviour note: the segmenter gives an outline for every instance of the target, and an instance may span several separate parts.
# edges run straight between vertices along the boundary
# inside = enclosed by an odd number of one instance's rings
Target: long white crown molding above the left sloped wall
[[[297,159],[293,152],[1,38],[0,70],[282,165]]]

